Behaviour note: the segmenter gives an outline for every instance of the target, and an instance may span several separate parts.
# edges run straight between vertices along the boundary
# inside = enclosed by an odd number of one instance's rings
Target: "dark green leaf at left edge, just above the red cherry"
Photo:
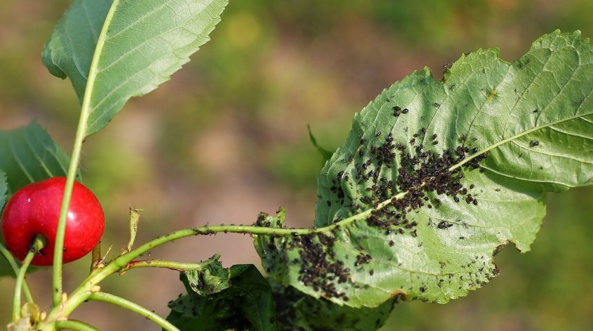
[[[0,130],[0,154],[8,192],[50,177],[66,176],[70,163],[66,152],[34,121],[14,130]]]

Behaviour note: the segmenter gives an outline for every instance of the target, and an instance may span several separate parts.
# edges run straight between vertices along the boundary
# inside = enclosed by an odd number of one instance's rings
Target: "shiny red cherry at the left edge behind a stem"
[[[35,255],[31,264],[52,265],[65,177],[53,177],[24,186],[6,204],[1,219],[2,238],[14,257],[23,260],[35,234],[43,234],[48,245]],[[66,219],[63,263],[80,259],[101,240],[105,216],[97,197],[74,181]]]

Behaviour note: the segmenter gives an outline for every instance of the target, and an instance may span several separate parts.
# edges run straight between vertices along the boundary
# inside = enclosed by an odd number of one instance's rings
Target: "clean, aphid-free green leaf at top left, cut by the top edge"
[[[70,77],[81,103],[88,98],[88,136],[190,61],[227,2],[77,0],[57,23],[43,63]]]

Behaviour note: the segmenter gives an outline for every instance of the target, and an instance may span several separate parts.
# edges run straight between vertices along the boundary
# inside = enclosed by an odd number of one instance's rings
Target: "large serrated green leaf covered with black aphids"
[[[463,55],[384,90],[318,179],[316,233],[259,236],[270,276],[352,307],[393,297],[445,303],[529,250],[545,192],[593,178],[593,46],[554,32],[521,59]],[[268,217],[268,226],[282,226]]]

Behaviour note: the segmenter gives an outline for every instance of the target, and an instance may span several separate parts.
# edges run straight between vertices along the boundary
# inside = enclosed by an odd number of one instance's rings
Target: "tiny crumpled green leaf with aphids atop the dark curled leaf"
[[[188,270],[179,276],[189,287],[201,296],[218,293],[228,288],[229,271],[223,268],[218,258],[212,259],[212,263],[200,270]]]

